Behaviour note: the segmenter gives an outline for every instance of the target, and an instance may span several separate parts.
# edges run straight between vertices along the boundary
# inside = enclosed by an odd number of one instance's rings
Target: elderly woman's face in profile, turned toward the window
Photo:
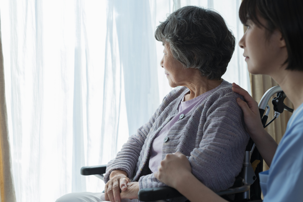
[[[163,58],[160,65],[165,70],[165,75],[168,78],[168,83],[172,88],[177,86],[187,86],[191,82],[192,75],[197,69],[184,68],[182,63],[174,58],[171,54],[169,44],[164,45]]]

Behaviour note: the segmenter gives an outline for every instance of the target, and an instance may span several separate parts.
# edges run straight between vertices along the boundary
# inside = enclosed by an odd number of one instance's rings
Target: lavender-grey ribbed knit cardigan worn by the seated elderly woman
[[[106,167],[104,182],[114,170],[122,170],[139,188],[166,186],[148,168],[151,143],[159,131],[176,114],[183,96],[189,91],[180,87],[163,99],[155,114],[129,137],[117,157]],[[188,157],[192,174],[214,191],[231,187],[240,173],[249,136],[244,128],[243,112],[227,81],[186,117],[177,121],[163,143],[162,159],[166,154],[181,152]]]

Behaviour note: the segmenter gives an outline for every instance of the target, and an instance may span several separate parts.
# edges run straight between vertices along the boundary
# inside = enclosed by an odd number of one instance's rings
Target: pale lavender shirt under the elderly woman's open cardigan
[[[184,101],[185,96],[182,98],[182,101],[178,107],[178,114],[162,128],[162,130],[157,134],[157,136],[151,143],[151,150],[150,150],[151,156],[149,158],[149,166],[148,166],[151,172],[154,173],[158,171],[158,166],[162,161],[162,146],[164,143],[164,139],[167,136],[168,131],[171,129],[171,127],[179,120],[180,115],[184,114],[184,117],[186,117],[186,115],[191,110],[198,107],[198,105],[201,104],[201,102],[215,89],[216,88],[207,91],[206,93],[203,93],[198,97],[188,101]]]

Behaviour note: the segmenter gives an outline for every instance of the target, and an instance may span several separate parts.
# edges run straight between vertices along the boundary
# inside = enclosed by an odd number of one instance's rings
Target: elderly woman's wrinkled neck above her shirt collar
[[[189,94],[185,95],[184,101],[188,101],[198,97],[199,95],[206,93],[214,88],[217,88],[223,79],[220,80],[209,80],[209,79],[193,79],[185,86],[190,90]]]

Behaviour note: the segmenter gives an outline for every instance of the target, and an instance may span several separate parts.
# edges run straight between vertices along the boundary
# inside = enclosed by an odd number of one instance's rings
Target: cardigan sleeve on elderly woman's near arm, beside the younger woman
[[[204,126],[199,126],[198,133],[203,133],[203,137],[199,148],[188,157],[192,174],[215,192],[234,183],[249,140],[243,112],[236,102],[238,97],[243,97],[231,90],[221,93],[223,95],[209,106],[206,117],[202,113],[201,119],[206,121]]]

